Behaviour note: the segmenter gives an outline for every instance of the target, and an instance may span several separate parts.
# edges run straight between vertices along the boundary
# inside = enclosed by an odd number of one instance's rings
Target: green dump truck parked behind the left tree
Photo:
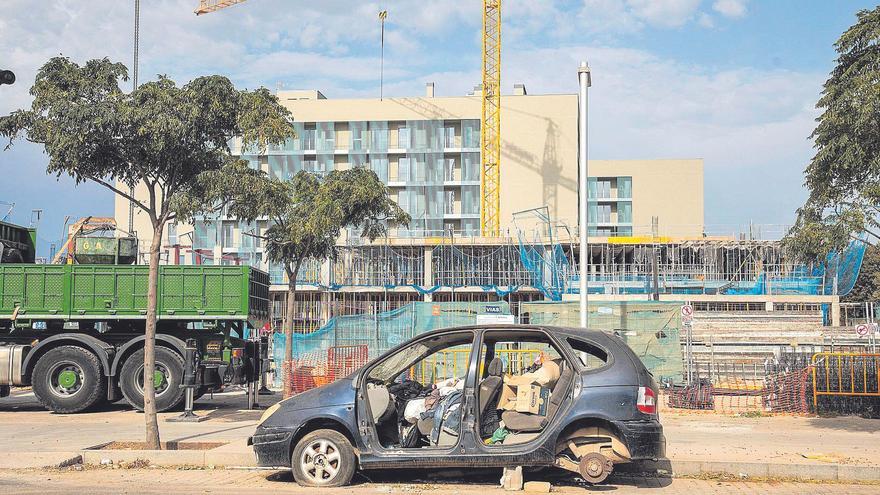
[[[123,246],[125,243],[118,243]],[[100,259],[101,249],[79,243]],[[106,254],[106,253],[104,253]],[[121,253],[127,256],[127,253]],[[106,256],[105,256],[106,258]],[[119,262],[120,253],[108,260]],[[147,267],[0,263],[0,397],[31,386],[59,413],[125,399],[143,407]],[[269,276],[246,266],[162,266],[156,336],[156,403],[178,407],[184,348],[195,339],[200,395],[255,381],[246,329],[269,316]]]

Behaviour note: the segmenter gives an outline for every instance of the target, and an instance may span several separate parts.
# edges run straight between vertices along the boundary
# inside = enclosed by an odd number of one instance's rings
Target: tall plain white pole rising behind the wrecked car
[[[580,277],[578,282],[580,296],[581,326],[587,328],[589,313],[587,307],[587,271],[589,258],[589,218],[587,196],[589,179],[587,178],[587,89],[592,84],[590,66],[581,62],[578,68],[578,235],[580,237]]]

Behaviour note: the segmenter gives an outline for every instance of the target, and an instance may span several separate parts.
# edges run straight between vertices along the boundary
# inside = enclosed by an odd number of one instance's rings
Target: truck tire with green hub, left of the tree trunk
[[[107,396],[107,377],[98,357],[82,347],[50,349],[34,366],[31,384],[37,400],[52,412],[83,412]]]

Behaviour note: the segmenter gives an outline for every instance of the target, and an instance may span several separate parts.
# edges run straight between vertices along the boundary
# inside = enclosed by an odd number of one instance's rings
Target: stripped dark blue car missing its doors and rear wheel
[[[556,466],[591,483],[665,456],[657,384],[619,337],[544,326],[419,335],[269,408],[249,439],[301,485],[356,469]]]

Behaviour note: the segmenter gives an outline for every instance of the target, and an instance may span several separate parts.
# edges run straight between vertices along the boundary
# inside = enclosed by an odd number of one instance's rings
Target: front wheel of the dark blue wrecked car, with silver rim
[[[347,438],[335,430],[315,430],[297,442],[290,465],[302,486],[338,487],[351,482],[357,458]]]

